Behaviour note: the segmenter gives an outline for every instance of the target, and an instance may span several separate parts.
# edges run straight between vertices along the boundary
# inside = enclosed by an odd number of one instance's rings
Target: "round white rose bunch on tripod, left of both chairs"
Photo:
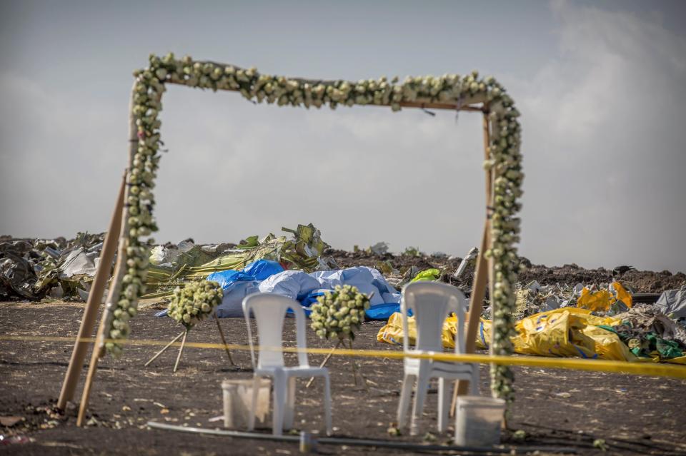
[[[191,329],[200,321],[212,315],[214,308],[222,303],[224,291],[219,283],[210,280],[194,280],[174,289],[172,300],[167,306],[169,316]]]

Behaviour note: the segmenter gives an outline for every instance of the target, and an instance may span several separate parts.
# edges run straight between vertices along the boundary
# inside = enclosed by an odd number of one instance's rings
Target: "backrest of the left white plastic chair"
[[[284,317],[288,309],[293,310],[296,325],[296,343],[298,348],[307,348],[305,342],[305,313],[296,300],[274,293],[254,293],[243,299],[243,313],[248,325],[248,342],[253,368],[282,368],[284,366],[283,346]],[[259,359],[255,363],[255,350],[250,329],[250,313],[257,323]],[[270,350],[272,348],[272,350]],[[298,352],[298,362],[307,367],[307,353]]]

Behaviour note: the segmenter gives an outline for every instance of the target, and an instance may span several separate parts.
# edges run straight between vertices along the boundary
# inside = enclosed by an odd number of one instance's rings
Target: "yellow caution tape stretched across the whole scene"
[[[81,342],[94,343],[95,338],[68,338],[55,336],[28,336],[28,335],[0,335],[0,340],[17,340],[26,342]],[[104,339],[102,343],[118,343],[120,345],[167,345],[163,340],[127,339],[114,340]],[[180,347],[182,343],[172,343],[173,347]],[[221,343],[187,342],[189,348],[214,348],[225,350],[250,350],[249,345],[234,345]],[[392,350],[349,350],[345,348],[297,348],[297,347],[261,347],[254,346],[254,350],[282,351],[284,353],[309,353],[312,355],[355,356],[360,358],[418,358],[422,360],[444,361],[448,363],[479,363],[499,365],[520,365],[551,369],[590,370],[594,372],[625,373],[632,375],[653,375],[657,377],[671,377],[686,379],[686,368],[679,365],[664,365],[657,363],[627,363],[626,361],[609,360],[583,360],[579,358],[543,358],[537,356],[503,356],[503,355],[479,355],[476,353],[404,353]]]

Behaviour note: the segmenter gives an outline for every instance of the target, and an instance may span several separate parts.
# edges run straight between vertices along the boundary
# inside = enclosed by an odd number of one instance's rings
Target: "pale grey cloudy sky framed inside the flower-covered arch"
[[[159,176],[161,238],[182,230],[207,240],[239,238],[309,221],[340,248],[387,240],[402,250],[424,240],[427,250],[461,251],[478,238],[482,203],[464,197],[472,181],[483,186],[478,119],[456,125],[454,113],[252,106],[229,95],[167,93],[162,128],[171,151]],[[179,221],[172,213],[188,198],[194,216]],[[193,223],[208,213],[212,223]]]

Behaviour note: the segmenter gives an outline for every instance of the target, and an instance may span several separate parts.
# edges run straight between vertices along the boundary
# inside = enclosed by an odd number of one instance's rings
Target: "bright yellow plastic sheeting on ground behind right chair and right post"
[[[637,358],[612,331],[598,328],[597,325],[614,326],[620,320],[611,317],[597,317],[591,310],[581,308],[561,308],[537,313],[517,322],[517,335],[512,338],[515,353],[522,355],[541,355],[558,357],[597,358],[602,360],[647,361],[650,358]],[[416,329],[414,318],[408,318],[409,342],[414,343]],[[457,318],[446,319],[441,334],[445,348],[454,348],[457,333]],[[477,328],[477,348],[488,348],[491,340],[491,321],[481,320]],[[402,344],[402,318],[394,313],[387,325],[377,334],[379,342]],[[666,360],[670,363],[686,364],[686,356]]]

